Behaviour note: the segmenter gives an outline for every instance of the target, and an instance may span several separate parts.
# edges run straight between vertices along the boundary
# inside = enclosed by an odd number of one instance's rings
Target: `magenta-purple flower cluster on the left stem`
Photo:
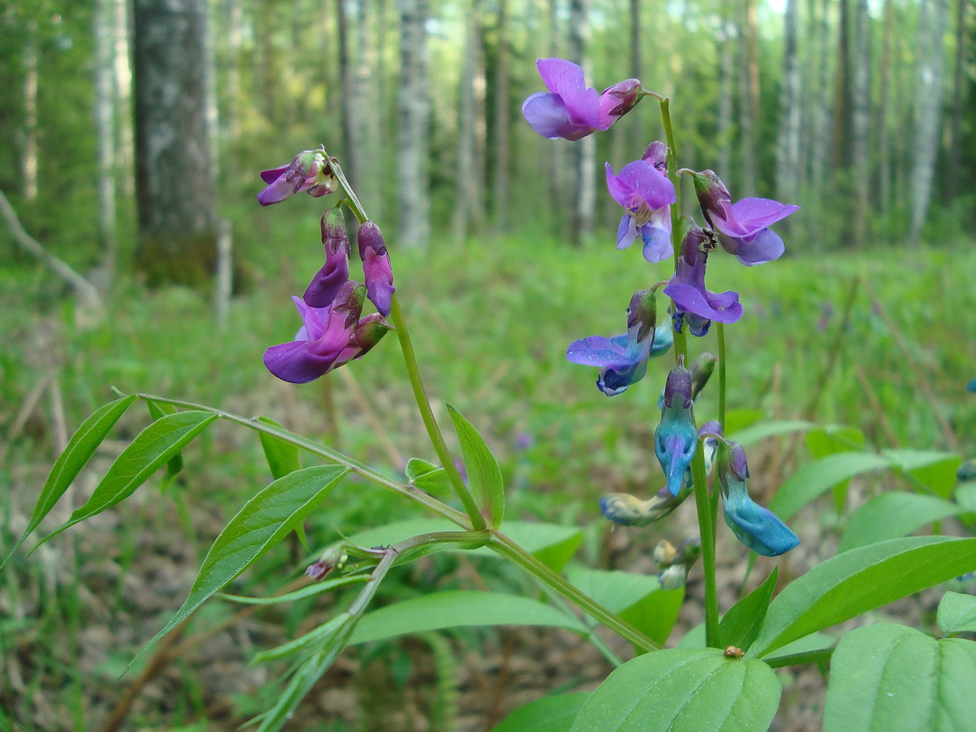
[[[300,152],[291,165],[261,174],[268,184],[258,201],[267,206],[303,190],[316,197],[333,193],[339,189],[336,164],[323,150]],[[365,285],[349,279],[351,247],[342,209],[337,206],[322,214],[321,228],[325,264],[308,283],[305,295],[293,298],[302,328],[293,341],[264,351],[267,370],[292,384],[314,381],[360,358],[392,330],[385,318],[395,288],[380,227],[367,221],[356,234]],[[362,316],[366,299],[378,312]]]

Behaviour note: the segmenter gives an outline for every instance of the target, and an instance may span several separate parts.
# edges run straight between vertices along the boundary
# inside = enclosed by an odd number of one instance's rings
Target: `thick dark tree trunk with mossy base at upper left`
[[[205,0],[136,0],[137,267],[200,286],[216,256]]]

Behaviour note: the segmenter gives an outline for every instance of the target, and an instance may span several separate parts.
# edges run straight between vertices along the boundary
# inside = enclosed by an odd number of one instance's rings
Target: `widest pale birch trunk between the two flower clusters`
[[[399,0],[400,91],[398,98],[397,171],[400,240],[426,247],[430,237],[430,116],[427,62],[427,0]]]

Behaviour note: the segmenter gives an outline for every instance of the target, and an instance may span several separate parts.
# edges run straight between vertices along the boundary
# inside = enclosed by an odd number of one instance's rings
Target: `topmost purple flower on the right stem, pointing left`
[[[549,93],[539,92],[522,102],[522,114],[533,130],[551,140],[579,140],[596,130],[609,130],[644,96],[637,79],[614,84],[598,95],[575,63],[539,59],[536,66]]]

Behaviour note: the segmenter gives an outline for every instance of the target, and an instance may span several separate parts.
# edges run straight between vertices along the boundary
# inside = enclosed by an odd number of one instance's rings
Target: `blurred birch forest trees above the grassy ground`
[[[670,96],[681,164],[802,205],[804,249],[976,223],[971,0],[5,0],[0,22],[0,189],[96,280],[138,261],[150,283],[198,281],[155,248],[212,269],[222,219],[260,262],[256,172],[319,142],[396,244],[486,226],[579,243],[619,215],[597,163],[662,130],[651,101],[540,142],[519,105],[549,56]],[[195,243],[156,241],[179,229]]]

